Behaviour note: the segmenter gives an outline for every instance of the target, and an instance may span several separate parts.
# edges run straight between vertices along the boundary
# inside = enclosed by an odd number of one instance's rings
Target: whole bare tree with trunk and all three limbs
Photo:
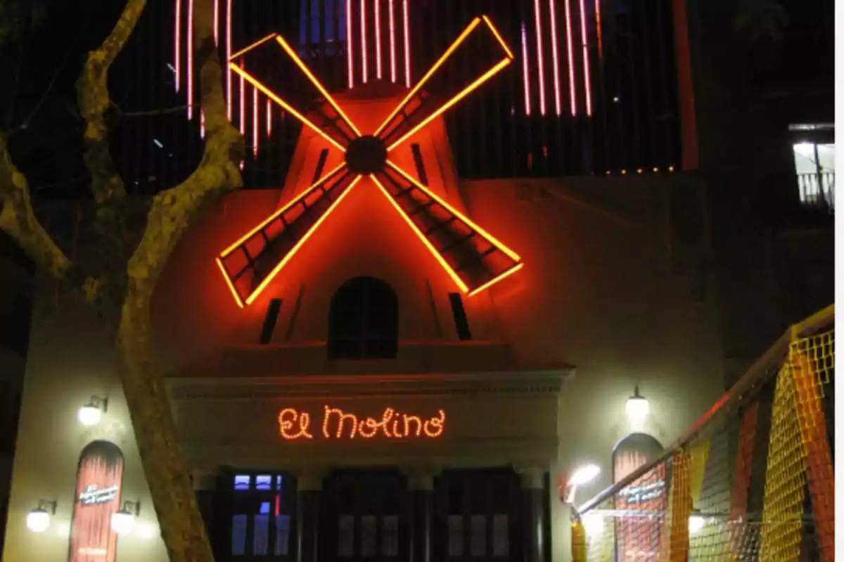
[[[120,310],[116,324],[118,372],[126,396],[133,432],[149,484],[154,509],[171,562],[212,562],[202,516],[197,508],[187,463],[181,452],[176,424],[170,412],[164,379],[155,357],[150,302],[161,271],[182,233],[205,204],[242,185],[240,163],[243,137],[226,118],[217,45],[214,44],[214,0],[194,0],[194,39],[200,67],[201,104],[206,141],[202,162],[181,185],[155,195],[149,207],[143,237],[119,278],[100,280],[86,276],[68,260],[35,217],[30,189],[14,167],[0,136],[0,228],[9,233],[44,270],[90,302]],[[127,0],[122,15],[100,48],[91,51],[77,82],[80,113],[86,121],[84,163],[91,175],[97,205],[96,224],[111,235],[111,227],[126,224],[126,192],[108,151],[105,113],[108,70],[132,35],[145,0]],[[122,212],[121,212],[122,211]],[[122,246],[118,245],[118,248]],[[126,255],[129,252],[126,252]],[[121,254],[122,257],[123,254]],[[111,257],[111,256],[110,256]],[[102,260],[100,260],[102,261]],[[122,262],[120,262],[122,267]],[[125,286],[122,303],[103,296],[103,282]],[[105,302],[104,302],[105,301]],[[114,325],[114,324],[109,324]]]

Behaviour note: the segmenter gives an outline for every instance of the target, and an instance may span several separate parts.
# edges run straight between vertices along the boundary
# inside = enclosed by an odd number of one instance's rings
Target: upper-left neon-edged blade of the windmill
[[[236,52],[229,67],[341,151],[360,136],[349,115],[281,35],[268,35]]]

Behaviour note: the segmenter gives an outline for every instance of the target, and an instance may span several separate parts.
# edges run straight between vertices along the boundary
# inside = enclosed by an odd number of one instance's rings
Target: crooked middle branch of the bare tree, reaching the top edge
[[[108,71],[132,35],[145,6],[146,0],[128,0],[106,40],[98,49],[88,53],[82,76],[76,83],[79,112],[87,125],[83,136],[85,168],[91,175],[91,192],[97,205],[126,195],[123,179],[117,174],[109,151],[106,112],[111,109],[111,98]]]

